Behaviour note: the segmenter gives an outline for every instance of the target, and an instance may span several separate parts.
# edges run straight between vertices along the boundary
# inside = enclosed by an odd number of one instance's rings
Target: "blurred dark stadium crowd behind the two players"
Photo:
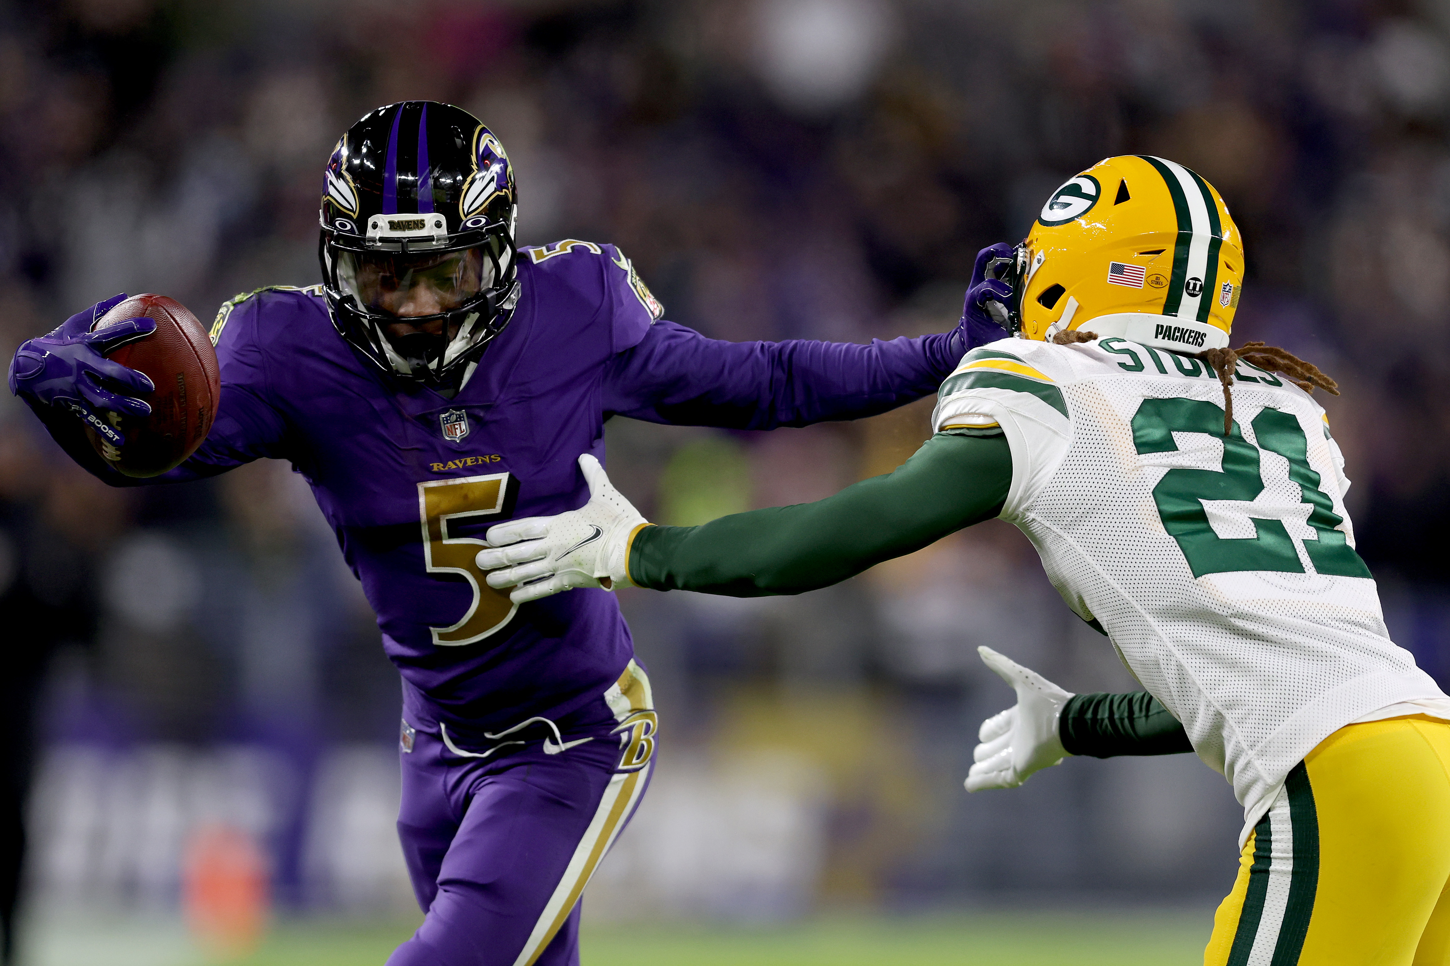
[[[1195,168],[1247,243],[1237,342],[1340,381],[1360,550],[1396,640],[1450,684],[1450,4],[9,0],[0,356],[122,290],[209,320],[315,284],[332,143],[402,98],[500,136],[522,243],[618,243],[668,319],[734,340],[945,330],[977,249],[1022,238],[1066,177],[1125,152]],[[696,523],[886,472],[928,413],[613,420],[610,472],[652,520]],[[1134,686],[1011,527],[799,598],[622,604],[664,733],[592,915],[1231,883],[1238,808],[1196,759],[961,791],[977,723],[1011,701],[977,644],[1073,691]],[[409,907],[397,679],[289,466],[112,491],[3,394],[0,621],[32,912],[177,910],[218,850],[281,912]]]

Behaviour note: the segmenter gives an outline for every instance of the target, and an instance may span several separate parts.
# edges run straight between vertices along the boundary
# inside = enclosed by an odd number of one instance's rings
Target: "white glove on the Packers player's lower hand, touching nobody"
[[[1057,718],[1073,695],[1043,675],[1003,658],[990,647],[977,647],[982,663],[992,668],[1016,691],[1016,705],[993,714],[977,731],[976,762],[967,772],[967,791],[1016,788],[1032,772],[1051,768],[1067,750],[1057,734]]]

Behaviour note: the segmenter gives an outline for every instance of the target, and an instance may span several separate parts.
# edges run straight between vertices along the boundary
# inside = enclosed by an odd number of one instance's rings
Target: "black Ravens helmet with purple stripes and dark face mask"
[[[364,114],[322,184],[332,324],[384,372],[457,387],[519,298],[516,198],[503,145],[461,107],[409,100]]]

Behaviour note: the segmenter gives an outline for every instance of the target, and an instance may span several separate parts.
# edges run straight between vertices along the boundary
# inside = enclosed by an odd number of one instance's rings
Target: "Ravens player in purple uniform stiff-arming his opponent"
[[[146,377],[103,358],[154,323],[20,346],[12,391],[113,485],[286,459],[307,479],[403,678],[403,853],[426,911],[390,966],[579,962],[579,896],[650,781],[658,721],[605,589],[516,605],[476,558],[489,526],[589,500],[605,420],[773,429],[883,413],[1002,337],[731,343],[661,320],[612,245],[515,246],[513,167],[467,112],[403,101],[338,142],[323,282],[222,306],[206,443],[136,481],[87,443],[97,410],[145,413]]]

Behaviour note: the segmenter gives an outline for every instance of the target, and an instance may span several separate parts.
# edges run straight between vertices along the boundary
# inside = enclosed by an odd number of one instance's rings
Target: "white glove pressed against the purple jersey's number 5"
[[[525,517],[489,527],[490,547],[478,550],[489,587],[515,587],[509,600],[526,604],[576,587],[629,584],[629,537],[647,526],[593,456],[579,458],[589,503],[555,517]],[[503,569],[499,569],[503,568]]]

